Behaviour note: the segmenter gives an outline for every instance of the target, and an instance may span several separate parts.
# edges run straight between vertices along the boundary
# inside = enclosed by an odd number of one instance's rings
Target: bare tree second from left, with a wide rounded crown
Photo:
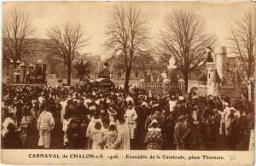
[[[83,31],[80,24],[71,25],[69,21],[63,26],[53,26],[47,31],[49,42],[45,42],[45,50],[49,55],[63,60],[67,66],[67,84],[71,83],[72,63],[79,54],[79,49],[85,47],[88,38],[83,39]]]

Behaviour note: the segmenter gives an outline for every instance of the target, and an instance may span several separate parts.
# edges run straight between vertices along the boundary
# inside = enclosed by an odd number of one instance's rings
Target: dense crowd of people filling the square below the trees
[[[3,85],[2,147],[248,150],[253,104],[145,89]]]

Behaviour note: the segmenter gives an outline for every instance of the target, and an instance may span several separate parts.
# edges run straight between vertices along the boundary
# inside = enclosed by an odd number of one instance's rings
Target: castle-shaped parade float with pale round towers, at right
[[[212,59],[211,59],[212,58]],[[198,77],[198,91],[199,95],[228,95],[232,98],[241,97],[241,77],[239,71],[236,69],[234,76],[229,84],[226,80],[226,63],[227,51],[225,47],[218,47],[214,49],[207,49],[205,60],[201,65],[205,64],[205,70],[201,72]]]

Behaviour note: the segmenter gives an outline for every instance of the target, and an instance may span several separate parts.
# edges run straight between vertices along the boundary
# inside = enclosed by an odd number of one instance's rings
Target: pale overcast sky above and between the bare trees
[[[102,54],[102,43],[106,39],[104,32],[109,21],[109,14],[114,5],[128,7],[131,3],[104,2],[9,2],[3,4],[3,18],[12,10],[26,12],[32,17],[32,26],[36,28],[34,37],[46,38],[46,29],[60,25],[65,20],[79,21],[84,37],[90,37],[90,45],[81,50],[83,53]],[[206,21],[207,31],[218,37],[218,44],[228,46],[226,26],[230,19],[240,17],[245,11],[255,11],[253,3],[132,3],[143,11],[148,20],[148,30],[154,45],[159,30],[165,26],[166,14],[175,9],[190,9]],[[103,54],[102,54],[103,55]]]

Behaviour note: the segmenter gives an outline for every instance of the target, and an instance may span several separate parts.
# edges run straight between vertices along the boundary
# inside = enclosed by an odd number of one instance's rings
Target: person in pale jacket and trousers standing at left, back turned
[[[38,130],[40,136],[38,146],[44,146],[45,149],[49,149],[50,131],[55,127],[55,120],[48,108],[46,108],[45,103],[42,104],[41,109],[43,112],[38,117]]]

